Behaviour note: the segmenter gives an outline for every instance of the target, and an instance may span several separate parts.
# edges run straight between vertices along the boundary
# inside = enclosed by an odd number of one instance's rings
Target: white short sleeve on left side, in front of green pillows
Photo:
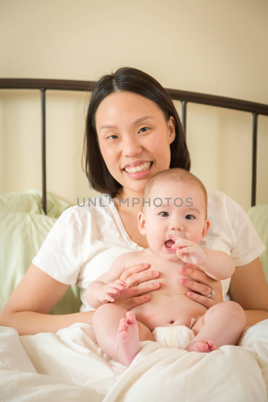
[[[74,285],[80,272],[81,239],[75,207],[56,220],[32,263],[61,283]]]

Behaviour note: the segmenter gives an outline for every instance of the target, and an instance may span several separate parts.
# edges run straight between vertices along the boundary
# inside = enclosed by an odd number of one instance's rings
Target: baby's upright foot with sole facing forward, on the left
[[[125,366],[129,366],[141,350],[139,325],[132,311],[127,312],[127,318],[121,318],[120,320],[117,342],[119,346],[119,360]]]

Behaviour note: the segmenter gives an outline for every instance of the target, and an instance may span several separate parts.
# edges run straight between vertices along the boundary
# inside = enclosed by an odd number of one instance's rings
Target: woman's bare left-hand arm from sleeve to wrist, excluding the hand
[[[14,289],[0,315],[0,325],[15,328],[19,335],[53,332],[76,322],[91,324],[95,312],[51,315],[49,312],[70,285],[58,282],[31,264]]]

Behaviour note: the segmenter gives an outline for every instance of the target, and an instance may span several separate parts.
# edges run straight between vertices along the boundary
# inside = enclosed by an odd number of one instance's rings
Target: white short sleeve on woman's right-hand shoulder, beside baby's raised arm
[[[227,195],[226,208],[235,238],[234,246],[231,249],[231,258],[233,258],[236,267],[241,267],[260,256],[266,250],[266,246],[241,205]]]

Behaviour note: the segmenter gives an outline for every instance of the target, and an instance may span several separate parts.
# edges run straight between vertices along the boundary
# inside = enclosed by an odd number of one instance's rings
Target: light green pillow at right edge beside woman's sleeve
[[[268,283],[268,204],[251,207],[247,214],[266,246],[266,250],[260,255],[260,260]]]

